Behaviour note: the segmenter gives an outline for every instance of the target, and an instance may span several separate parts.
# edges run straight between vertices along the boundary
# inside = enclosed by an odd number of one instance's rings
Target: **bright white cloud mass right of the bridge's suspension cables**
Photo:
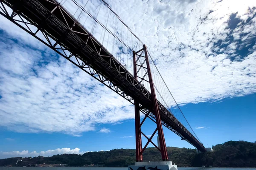
[[[245,43],[251,43],[248,38],[255,38],[255,17],[251,23],[237,26],[233,31],[228,26],[233,13],[237,12],[237,18],[244,21],[253,17],[248,7],[256,6],[256,1],[163,0],[149,1],[144,6],[137,1],[118,2],[111,0],[109,3],[148,45],[178,103],[216,101],[256,92],[255,50],[242,61],[232,60],[237,53],[233,49],[239,44],[225,41],[229,34],[235,37],[245,32],[249,33],[244,35]],[[123,4],[124,7],[119,8]],[[228,48],[216,46],[218,40],[227,43]],[[218,48],[222,52],[215,52]]]

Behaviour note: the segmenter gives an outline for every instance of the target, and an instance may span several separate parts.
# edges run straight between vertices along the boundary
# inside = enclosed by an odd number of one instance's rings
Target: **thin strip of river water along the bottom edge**
[[[0,170],[128,170],[127,167],[0,167]],[[256,168],[178,167],[178,170],[256,170]]]

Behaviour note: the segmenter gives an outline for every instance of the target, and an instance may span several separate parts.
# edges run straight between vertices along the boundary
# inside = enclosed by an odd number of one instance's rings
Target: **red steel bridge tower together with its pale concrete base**
[[[157,97],[154,90],[154,83],[152,79],[151,69],[149,65],[148,60],[148,51],[147,47],[144,44],[143,48],[139,51],[135,52],[133,51],[133,64],[134,64],[134,77],[138,81],[137,86],[143,86],[141,82],[145,81],[150,85],[150,91],[151,91],[151,102],[148,104],[150,105],[150,109],[145,110],[143,109],[142,105],[140,105],[139,99],[134,99],[134,111],[135,111],[135,140],[136,140],[136,162],[134,166],[129,166],[129,170],[140,170],[145,168],[156,168],[160,170],[160,168],[166,170],[177,170],[176,165],[172,165],[172,161],[168,161],[168,155],[166,150],[166,143],[163,135],[163,127],[160,117],[160,111],[157,104]],[[143,70],[143,74],[140,74],[141,77],[139,77],[139,72]],[[145,114],[145,117],[142,121],[140,121],[140,111],[143,111]],[[157,128],[154,130],[153,134],[150,138],[148,138],[142,131],[141,126],[145,122],[146,118],[149,117],[149,113],[151,113],[151,116],[155,118],[155,123],[157,124]],[[154,135],[158,133],[158,144],[154,144],[152,142],[152,138]],[[142,147],[142,139],[141,136],[144,136],[146,139],[148,139],[147,143],[144,147]],[[148,146],[149,143],[152,143],[161,153],[162,160],[161,162],[144,162],[143,161],[143,151]]]

